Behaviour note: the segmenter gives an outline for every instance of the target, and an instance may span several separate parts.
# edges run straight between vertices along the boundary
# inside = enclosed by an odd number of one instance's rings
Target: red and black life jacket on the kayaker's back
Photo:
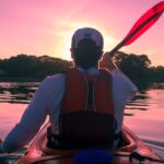
[[[75,68],[66,72],[61,104],[60,136],[85,144],[113,142],[116,130],[112,96],[112,74],[99,70],[86,75]]]

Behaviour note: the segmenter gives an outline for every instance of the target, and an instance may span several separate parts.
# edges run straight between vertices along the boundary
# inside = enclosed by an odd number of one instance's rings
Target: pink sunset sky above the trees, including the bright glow
[[[0,0],[0,58],[17,54],[70,59],[72,33],[99,30],[105,50],[117,45],[133,23],[161,0]],[[145,54],[164,66],[164,15],[125,52]]]

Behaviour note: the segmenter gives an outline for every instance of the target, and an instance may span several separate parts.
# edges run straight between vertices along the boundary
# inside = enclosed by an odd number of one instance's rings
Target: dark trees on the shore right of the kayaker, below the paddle
[[[115,59],[119,69],[133,82],[164,82],[164,66],[151,67],[147,55],[118,51]]]

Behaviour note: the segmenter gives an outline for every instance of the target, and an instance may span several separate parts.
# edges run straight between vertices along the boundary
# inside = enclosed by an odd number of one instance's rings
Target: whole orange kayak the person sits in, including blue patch
[[[46,124],[36,134],[26,153],[20,159],[19,164],[94,164],[94,162],[91,162],[91,157],[89,159],[89,156],[96,159],[98,156],[98,152],[101,152],[99,154],[102,154],[102,152],[110,154],[110,162],[108,163],[113,164],[134,164],[139,163],[140,161],[142,161],[144,164],[144,161],[148,163],[148,160],[154,162],[161,161],[160,156],[154,151],[152,151],[151,148],[149,148],[142,140],[140,140],[125,126],[122,126],[121,145],[112,150],[105,149],[104,151],[95,151],[92,149],[91,151],[80,149],[49,149],[46,147],[48,127],[49,124]],[[93,155],[93,152],[96,152],[96,155]],[[89,159],[90,162],[84,162],[85,156],[87,156],[86,159]]]

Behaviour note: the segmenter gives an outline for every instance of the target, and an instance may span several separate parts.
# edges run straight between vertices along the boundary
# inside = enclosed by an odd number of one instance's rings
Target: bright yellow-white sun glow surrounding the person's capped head
[[[70,55],[70,47],[71,47],[71,37],[72,34],[81,27],[93,27],[98,30],[102,35],[104,36],[104,51],[109,51],[116,46],[118,43],[117,39],[112,37],[112,35],[107,34],[101,26],[97,26],[92,23],[71,23],[71,24],[63,24],[60,22],[62,26],[65,26],[63,31],[58,32],[56,35],[59,38],[56,43],[56,49],[54,51],[55,55],[58,55],[57,57],[63,58],[67,60],[72,60]],[[66,28],[67,27],[67,28]]]

